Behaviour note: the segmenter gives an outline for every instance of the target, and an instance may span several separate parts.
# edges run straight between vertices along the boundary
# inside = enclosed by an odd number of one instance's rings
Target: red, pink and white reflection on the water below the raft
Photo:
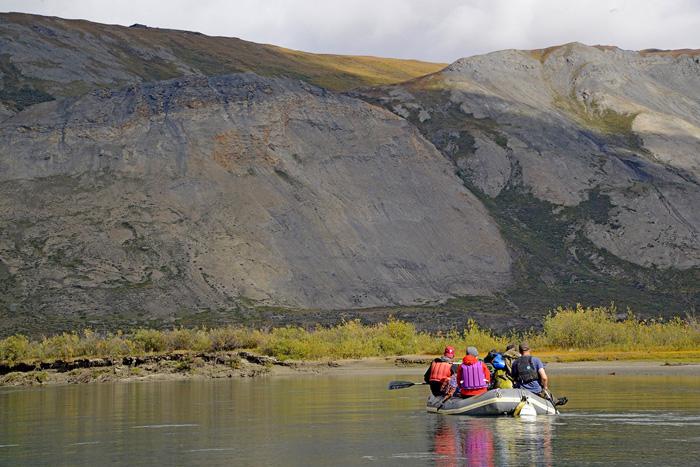
[[[432,451],[441,467],[553,465],[555,417],[448,417],[434,421]]]

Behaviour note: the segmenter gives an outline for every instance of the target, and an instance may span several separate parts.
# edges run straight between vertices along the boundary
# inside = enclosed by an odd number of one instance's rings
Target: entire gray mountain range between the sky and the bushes
[[[700,303],[696,51],[436,71],[8,14],[0,58],[2,334]]]

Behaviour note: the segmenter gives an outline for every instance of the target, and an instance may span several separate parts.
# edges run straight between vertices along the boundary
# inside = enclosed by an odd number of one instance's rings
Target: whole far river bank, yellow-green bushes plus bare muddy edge
[[[542,324],[541,331],[508,335],[495,335],[474,322],[461,331],[430,334],[394,319],[313,329],[229,326],[106,335],[84,330],[36,339],[13,335],[0,339],[0,385],[253,377],[322,372],[350,362],[425,367],[446,345],[476,346],[485,356],[523,340],[549,363],[700,362],[700,324],[694,317],[640,321],[631,313],[619,319],[614,307],[577,306],[559,308]]]

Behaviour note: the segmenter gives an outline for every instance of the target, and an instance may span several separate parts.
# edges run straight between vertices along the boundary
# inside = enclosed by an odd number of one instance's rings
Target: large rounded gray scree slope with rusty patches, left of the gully
[[[0,148],[15,308],[94,319],[109,307],[128,324],[240,300],[435,302],[509,282],[498,227],[414,127],[301,82],[95,91],[6,120]]]

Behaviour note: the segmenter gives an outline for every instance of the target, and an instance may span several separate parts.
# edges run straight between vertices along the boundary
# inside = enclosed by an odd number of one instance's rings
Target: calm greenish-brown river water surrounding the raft
[[[0,390],[0,465],[697,465],[700,378],[554,374],[562,415],[427,414],[382,376]]]

